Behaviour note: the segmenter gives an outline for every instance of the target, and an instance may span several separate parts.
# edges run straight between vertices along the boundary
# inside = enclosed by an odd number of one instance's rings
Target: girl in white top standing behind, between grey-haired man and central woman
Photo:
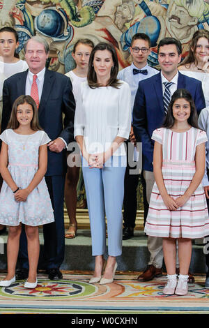
[[[72,50],[72,57],[75,60],[76,68],[70,70],[65,75],[70,77],[72,82],[72,92],[75,97],[76,108],[77,99],[80,94],[81,83],[86,81],[88,73],[88,60],[93,50],[93,42],[88,39],[80,39],[75,43]],[[70,154],[68,156],[68,171],[65,178],[65,204],[70,219],[70,225],[65,232],[65,238],[75,238],[77,232],[77,220],[76,220],[76,207],[77,207],[77,182],[79,179],[80,170],[80,156],[77,154]],[[74,164],[74,166],[72,166]]]

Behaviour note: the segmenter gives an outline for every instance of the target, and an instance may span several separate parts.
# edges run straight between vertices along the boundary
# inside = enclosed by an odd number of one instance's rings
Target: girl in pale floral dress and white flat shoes
[[[15,100],[8,128],[2,140],[0,167],[0,223],[8,225],[8,274],[0,286],[15,282],[15,267],[22,223],[25,225],[29,254],[29,277],[25,288],[36,288],[39,257],[38,226],[54,221],[52,203],[45,183],[47,134],[38,124],[36,103],[31,96]]]

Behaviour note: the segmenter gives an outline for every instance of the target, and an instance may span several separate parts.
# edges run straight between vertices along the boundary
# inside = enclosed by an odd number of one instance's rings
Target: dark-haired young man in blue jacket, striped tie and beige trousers
[[[160,40],[157,54],[161,71],[153,77],[139,82],[134,100],[134,135],[137,142],[142,142],[142,170],[146,181],[148,203],[155,181],[153,174],[154,142],[151,140],[151,136],[156,128],[162,126],[164,120],[166,109],[163,98],[167,87],[169,87],[170,95],[176,89],[187,89],[192,94],[198,113],[206,107],[201,82],[178,72],[181,52],[180,41],[175,38]],[[169,82],[171,83],[168,86]],[[162,239],[148,237],[148,250],[150,251],[150,261],[146,271],[139,276],[140,281],[148,281],[162,274]]]

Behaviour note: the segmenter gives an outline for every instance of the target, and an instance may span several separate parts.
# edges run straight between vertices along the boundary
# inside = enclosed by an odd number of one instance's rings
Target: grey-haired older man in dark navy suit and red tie
[[[75,99],[70,79],[45,68],[49,45],[35,36],[25,44],[25,58],[29,70],[9,77],[3,84],[3,112],[1,132],[6,129],[15,99],[31,94],[36,80],[36,103],[40,126],[52,140],[48,144],[48,165],[45,180],[54,209],[54,223],[43,226],[45,239],[45,267],[50,279],[62,278],[59,270],[64,259],[65,239],[63,220],[63,191],[65,181],[65,148],[73,140]],[[38,94],[38,96],[37,96]],[[17,278],[27,278],[29,263],[24,231],[20,239],[21,270]]]

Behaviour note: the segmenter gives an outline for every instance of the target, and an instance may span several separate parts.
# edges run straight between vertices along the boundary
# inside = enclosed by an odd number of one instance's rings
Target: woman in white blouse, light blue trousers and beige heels
[[[91,223],[95,271],[90,283],[111,283],[122,253],[122,206],[126,152],[130,135],[131,94],[126,82],[117,80],[116,50],[98,43],[91,52],[87,82],[75,112],[75,137],[82,152],[82,170]],[[107,217],[108,259],[105,214]]]

